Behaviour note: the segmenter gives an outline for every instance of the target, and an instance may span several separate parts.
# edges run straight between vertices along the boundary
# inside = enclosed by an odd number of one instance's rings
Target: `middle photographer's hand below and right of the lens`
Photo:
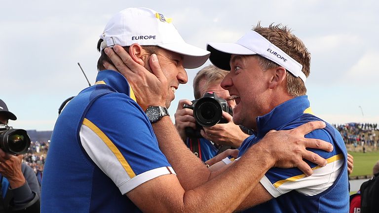
[[[220,145],[229,145],[234,148],[241,146],[249,135],[242,132],[241,128],[233,123],[233,117],[229,113],[223,111],[223,117],[227,123],[203,127],[204,130],[200,131],[201,136]]]

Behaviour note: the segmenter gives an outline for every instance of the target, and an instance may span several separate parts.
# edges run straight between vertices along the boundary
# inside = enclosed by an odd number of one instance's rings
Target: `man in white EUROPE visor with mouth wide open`
[[[221,86],[237,97],[234,123],[257,132],[242,143],[239,156],[272,129],[289,130],[321,120],[312,114],[305,95],[310,53],[287,27],[258,25],[236,43],[208,43],[207,50],[216,67],[230,70]],[[305,137],[333,144],[332,152],[310,149],[328,164],[307,162],[313,170],[310,177],[297,168],[269,169],[253,190],[258,199],[252,195],[242,209],[255,207],[243,212],[348,212],[347,153],[340,133],[327,124]]]

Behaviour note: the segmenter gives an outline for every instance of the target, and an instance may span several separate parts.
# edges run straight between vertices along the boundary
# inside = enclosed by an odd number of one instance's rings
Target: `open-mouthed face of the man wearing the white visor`
[[[256,130],[257,116],[270,111],[267,105],[269,75],[262,70],[256,56],[232,55],[230,68],[221,86],[236,96],[233,122]]]

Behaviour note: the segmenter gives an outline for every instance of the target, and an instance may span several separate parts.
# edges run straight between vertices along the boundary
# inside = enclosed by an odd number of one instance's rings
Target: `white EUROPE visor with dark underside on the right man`
[[[208,43],[207,50],[211,52],[209,60],[212,64],[223,70],[230,70],[231,54],[260,55],[300,77],[304,83],[306,80],[299,62],[255,31],[249,31],[235,43]]]

